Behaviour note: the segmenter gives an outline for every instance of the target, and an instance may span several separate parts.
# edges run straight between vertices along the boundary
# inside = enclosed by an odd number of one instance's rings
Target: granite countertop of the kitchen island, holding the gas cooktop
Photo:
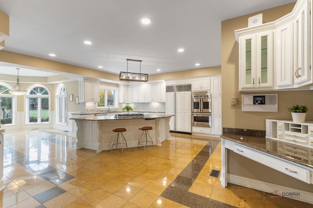
[[[126,119],[155,119],[155,118],[166,118],[174,116],[166,113],[153,113],[145,114],[143,116],[125,116],[125,117],[114,117],[114,115],[84,115],[82,117],[70,118],[72,120],[86,120],[86,121],[102,121],[102,120],[126,120]]]

